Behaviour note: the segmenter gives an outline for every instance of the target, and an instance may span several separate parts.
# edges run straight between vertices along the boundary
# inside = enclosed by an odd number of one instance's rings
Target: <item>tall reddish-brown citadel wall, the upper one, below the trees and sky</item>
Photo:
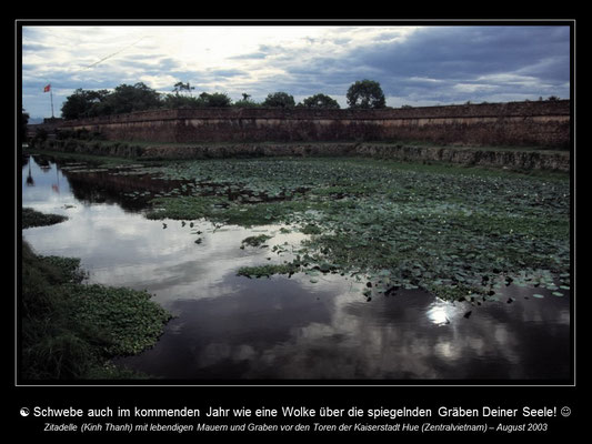
[[[178,109],[69,121],[109,140],[159,143],[409,141],[570,145],[570,102],[539,101],[387,110]]]

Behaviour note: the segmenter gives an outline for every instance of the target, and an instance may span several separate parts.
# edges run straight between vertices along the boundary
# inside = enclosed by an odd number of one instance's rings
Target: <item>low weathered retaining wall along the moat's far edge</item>
[[[36,142],[39,150],[91,155],[155,159],[227,159],[259,157],[363,157],[405,162],[444,162],[512,170],[570,171],[570,151],[468,147],[421,147],[381,142],[268,142],[138,144],[136,142],[47,140]]]

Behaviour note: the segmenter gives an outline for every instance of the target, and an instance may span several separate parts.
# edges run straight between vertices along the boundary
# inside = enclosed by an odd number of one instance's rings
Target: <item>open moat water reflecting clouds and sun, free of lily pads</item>
[[[272,244],[293,244],[304,235],[278,225],[150,221],[142,201],[127,193],[163,184],[80,167],[23,160],[23,206],[69,216],[23,235],[40,254],[81,258],[89,281],[146,289],[175,314],[155,346],[119,365],[188,381],[570,379],[569,291],[558,297],[511,285],[505,295],[513,302],[482,305],[419,290],[367,302],[339,275],[318,283],[303,274],[237,276],[240,266],[284,259],[241,250],[244,238],[265,233]]]

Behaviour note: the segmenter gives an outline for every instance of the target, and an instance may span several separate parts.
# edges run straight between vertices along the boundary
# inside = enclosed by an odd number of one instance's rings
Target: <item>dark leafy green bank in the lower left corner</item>
[[[109,360],[154,344],[170,319],[146,292],[81,283],[79,264],[22,243],[22,380],[139,377]]]

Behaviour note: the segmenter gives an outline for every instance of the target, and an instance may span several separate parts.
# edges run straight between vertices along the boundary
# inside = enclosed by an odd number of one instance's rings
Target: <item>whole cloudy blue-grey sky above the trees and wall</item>
[[[347,108],[357,80],[380,82],[390,107],[570,97],[566,26],[23,26],[22,100],[56,117],[77,88],[144,82],[171,92],[322,92]]]

